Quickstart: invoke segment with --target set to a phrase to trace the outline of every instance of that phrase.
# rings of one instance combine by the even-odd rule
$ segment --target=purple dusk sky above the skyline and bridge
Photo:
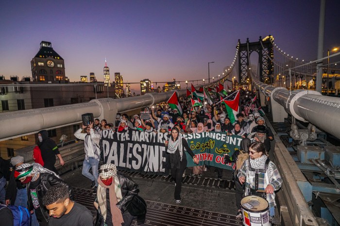
[[[340,46],[339,10],[340,0],[326,0],[325,54]],[[103,81],[105,57],[111,81],[115,72],[124,82],[207,80],[208,62],[210,78],[231,65],[238,39],[268,34],[311,61],[319,12],[319,0],[1,0],[0,75],[32,77],[42,40],[64,58],[70,81],[90,72]]]

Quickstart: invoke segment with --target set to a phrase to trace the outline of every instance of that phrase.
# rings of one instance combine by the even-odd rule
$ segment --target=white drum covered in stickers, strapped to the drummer
[[[249,195],[241,200],[242,222],[245,226],[270,226],[269,204],[264,198]]]

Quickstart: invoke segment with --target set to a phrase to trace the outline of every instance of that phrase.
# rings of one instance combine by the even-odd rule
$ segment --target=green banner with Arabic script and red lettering
[[[187,144],[200,161],[198,165],[210,165],[223,169],[233,170],[235,164],[224,164],[223,154],[232,156],[238,150],[242,137],[227,135],[222,132],[203,132],[183,134]],[[187,167],[196,166],[191,156],[187,154]]]

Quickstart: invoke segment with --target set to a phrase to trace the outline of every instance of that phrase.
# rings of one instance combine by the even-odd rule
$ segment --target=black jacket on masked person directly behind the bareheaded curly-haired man
[[[39,208],[44,215],[45,221],[48,222],[50,219],[49,211],[43,205],[42,199],[45,196],[46,192],[49,190],[49,188],[57,184],[63,184],[63,185],[68,186],[69,197],[71,200],[73,199],[73,190],[72,190],[72,187],[69,186],[64,180],[57,178],[53,174],[41,173],[39,175],[39,178],[40,178],[40,183],[36,187],[36,194],[38,196]],[[33,207],[32,196],[30,192],[30,183],[27,184],[27,196],[28,196],[28,210],[31,211],[34,209],[34,207]]]

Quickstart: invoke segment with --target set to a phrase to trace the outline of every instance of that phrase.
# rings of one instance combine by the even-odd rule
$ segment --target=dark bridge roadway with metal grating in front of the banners
[[[189,172],[187,169],[187,174]],[[231,171],[223,173],[223,179],[230,178]],[[213,178],[214,175],[214,169],[210,168],[203,176]],[[82,175],[82,168],[68,172],[62,178],[74,187],[75,201],[85,205],[96,215],[91,182]],[[178,205],[173,198],[174,183],[171,180],[153,180],[138,176],[131,178],[139,185],[139,195],[147,200],[147,225],[242,225],[241,219],[235,217],[237,208],[233,188],[183,184],[182,203]]]

